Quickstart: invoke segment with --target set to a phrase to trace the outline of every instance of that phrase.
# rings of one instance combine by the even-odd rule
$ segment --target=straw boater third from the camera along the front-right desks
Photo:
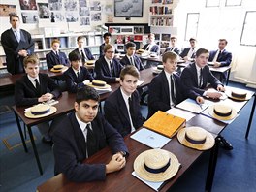
[[[234,108],[223,104],[209,106],[208,113],[218,120],[231,120],[237,116],[237,111]]]

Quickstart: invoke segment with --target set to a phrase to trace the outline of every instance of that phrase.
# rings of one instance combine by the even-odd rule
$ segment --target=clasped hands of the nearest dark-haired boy
[[[106,165],[106,174],[122,169],[125,163],[125,157],[123,157],[121,153],[112,155],[112,160]]]

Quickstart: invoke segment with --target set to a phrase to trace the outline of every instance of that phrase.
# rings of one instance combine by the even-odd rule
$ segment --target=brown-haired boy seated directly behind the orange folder
[[[140,73],[134,66],[127,66],[120,74],[120,88],[105,101],[106,119],[124,137],[143,126],[140,95],[137,88]]]

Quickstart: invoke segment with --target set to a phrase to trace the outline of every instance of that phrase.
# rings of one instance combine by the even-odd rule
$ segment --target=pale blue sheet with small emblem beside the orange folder
[[[171,141],[170,138],[146,128],[140,129],[135,134],[131,135],[131,138],[151,148],[162,148],[165,144]]]

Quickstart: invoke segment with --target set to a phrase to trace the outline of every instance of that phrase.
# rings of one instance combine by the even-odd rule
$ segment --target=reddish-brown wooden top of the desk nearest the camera
[[[201,121],[204,118],[205,127],[206,125],[217,126],[219,130],[222,130],[225,124],[216,124],[216,121],[212,121],[210,118],[206,118],[203,115],[197,115],[194,117],[195,121]],[[192,118],[193,119],[193,118]],[[191,120],[192,120],[191,119]],[[189,126],[189,122],[187,125]],[[214,135],[216,137],[216,135]],[[83,182],[76,183],[68,181],[67,178],[60,174],[50,178],[45,183],[38,186],[40,192],[44,191],[153,191],[150,187],[145,185],[141,180],[132,176],[133,162],[136,157],[144,150],[150,149],[148,146],[141,144],[129,136],[125,137],[125,144],[129,149],[130,155],[127,158],[126,166],[123,170],[109,174],[105,181],[94,181],[94,182]],[[173,152],[182,167],[170,181],[168,181],[160,191],[167,191],[172,185],[175,184],[176,180],[184,174],[184,172],[193,164],[193,162],[204,152],[195,149],[188,148],[182,144],[179,144],[176,137],[174,137],[170,143],[166,144],[164,149]],[[95,155],[86,159],[84,163],[106,163],[111,159],[112,153],[109,147],[97,152]]]

